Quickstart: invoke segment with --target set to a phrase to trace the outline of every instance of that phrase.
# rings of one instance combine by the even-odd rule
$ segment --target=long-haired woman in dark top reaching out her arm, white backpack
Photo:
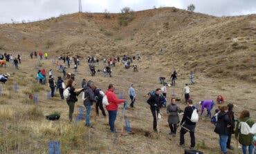
[[[66,98],[66,103],[68,104],[69,107],[69,121],[73,121],[73,113],[74,113],[74,108],[75,108],[75,102],[77,102],[77,95],[79,95],[84,88],[75,88],[75,81],[73,79],[68,79],[66,83],[66,88],[69,88],[68,91],[70,95]]]

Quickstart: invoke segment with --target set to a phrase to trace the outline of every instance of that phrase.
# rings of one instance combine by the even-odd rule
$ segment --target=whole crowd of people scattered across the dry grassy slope
[[[37,52],[31,52],[30,57],[33,59],[33,56],[37,57]],[[43,53],[39,52],[39,59],[42,59]],[[6,61],[12,61],[14,64],[17,62],[17,64],[21,64],[21,56],[18,55],[17,58],[13,59],[12,55],[5,54],[4,57],[6,58]],[[0,56],[1,58],[1,56]],[[44,53],[44,59],[48,59],[48,53]],[[128,69],[133,63],[133,60],[135,60],[136,57],[127,57],[124,55],[122,57],[122,64],[124,65],[124,68]],[[138,60],[140,57],[138,57]],[[15,62],[16,60],[16,62]],[[77,72],[77,66],[80,65],[80,57],[77,55],[75,57],[71,56],[61,56],[59,57],[59,60],[63,60],[64,64],[70,68],[71,63],[74,63],[74,70]],[[106,60],[105,60],[106,61]],[[91,75],[94,76],[95,71],[95,63],[99,62],[98,59],[95,57],[88,57],[88,63],[89,63],[89,69],[91,70]],[[120,58],[110,58],[109,60],[103,63],[106,64],[103,68],[104,76],[109,75],[111,77],[111,67],[116,66],[116,62],[120,62]],[[118,104],[128,104],[125,99],[118,99],[116,97],[116,94],[114,93],[115,85],[109,84],[107,91],[102,94],[102,90],[98,88],[95,85],[94,81],[86,81],[86,79],[82,79],[81,88],[75,88],[76,82],[75,82],[75,74],[74,73],[66,73],[66,67],[64,67],[64,64],[60,64],[59,61],[56,62],[57,68],[62,71],[63,77],[57,77],[57,81],[54,79],[53,70],[48,70],[48,87],[51,89],[51,97],[55,97],[55,89],[59,90],[61,99],[65,99],[64,97],[64,91],[68,89],[68,97],[66,97],[66,103],[68,104],[68,119],[69,122],[73,122],[73,113],[75,108],[75,102],[77,102],[77,96],[82,93],[82,101],[84,103],[84,106],[86,108],[86,115],[85,115],[85,126],[88,126],[89,128],[94,128],[91,124],[90,117],[91,117],[91,110],[93,103],[95,102],[95,113],[96,115],[99,115],[99,108],[101,110],[101,113],[104,117],[107,117],[106,111],[108,113],[109,117],[109,129],[111,133],[117,133],[117,130],[115,128],[115,122],[118,112]],[[17,67],[18,69],[18,67]],[[42,68],[41,70],[38,70],[37,72],[37,82],[39,84],[46,84],[46,70]],[[0,76],[1,79],[3,76]],[[6,77],[8,78],[8,77]],[[66,84],[65,84],[65,79]],[[177,73],[176,70],[171,75],[171,86],[175,86],[177,79]],[[252,127],[253,124],[255,124],[255,121],[253,118],[250,117],[250,113],[248,110],[243,110],[241,112],[241,115],[239,117],[235,117],[235,113],[233,112],[234,105],[233,104],[227,104],[225,105],[225,101],[223,96],[218,95],[216,98],[216,103],[214,103],[213,99],[206,99],[199,102],[199,104],[194,104],[192,101],[192,98],[190,97],[190,87],[188,84],[185,84],[185,87],[183,88],[183,94],[185,99],[185,104],[187,105],[183,110],[177,104],[177,101],[179,101],[177,98],[172,97],[170,100],[170,104],[167,104],[167,88],[165,83],[165,77],[159,77],[159,80],[161,81],[161,84],[163,86],[161,88],[156,88],[156,90],[152,90],[148,95],[147,104],[149,104],[149,108],[152,113],[153,117],[153,131],[156,133],[159,132],[158,128],[158,120],[161,119],[161,116],[163,115],[161,113],[162,108],[166,108],[166,113],[168,115],[167,123],[170,127],[170,133],[169,135],[172,135],[173,137],[176,137],[176,134],[178,133],[177,129],[179,126],[181,126],[180,132],[179,132],[179,146],[184,147],[185,145],[185,139],[184,135],[186,133],[190,133],[190,148],[194,148],[196,146],[196,139],[195,139],[195,128],[196,123],[192,121],[192,117],[194,114],[194,110],[196,112],[199,112],[199,106],[201,106],[201,113],[199,114],[200,117],[203,117],[204,110],[207,110],[207,113],[205,115],[205,118],[214,119],[214,132],[219,135],[219,146],[221,148],[221,151],[225,154],[228,153],[228,149],[233,150],[234,147],[231,145],[232,140],[232,134],[235,133],[235,138],[239,141],[239,143],[242,145],[242,151],[243,153],[246,153],[246,148],[248,147],[249,154],[253,152],[253,134],[243,134],[241,133],[241,122],[245,122],[248,124],[248,126]],[[3,81],[6,82],[6,81]],[[190,72],[190,84],[194,84],[194,73]],[[134,108],[135,102],[136,102],[136,90],[134,89],[134,85],[131,84],[128,91],[129,99],[130,99],[130,108]],[[103,99],[104,96],[107,97],[107,101],[109,105],[104,106],[103,105]],[[198,106],[199,105],[199,106]],[[221,106],[220,106],[221,105]],[[217,106],[217,107],[216,107]],[[105,108],[104,108],[105,107]],[[215,114],[212,116],[212,109],[215,109]],[[183,115],[183,117],[180,120],[180,116]]]

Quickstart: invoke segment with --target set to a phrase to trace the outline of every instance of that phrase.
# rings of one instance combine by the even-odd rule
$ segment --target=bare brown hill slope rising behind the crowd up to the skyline
[[[208,77],[256,81],[256,15],[217,18],[159,8],[135,12],[128,26],[118,25],[119,14],[110,16],[75,13],[33,23],[4,24],[0,26],[0,47],[100,58],[140,52],[156,59],[163,48],[166,58],[161,62],[166,66],[182,66]],[[47,48],[47,44],[52,45]]]

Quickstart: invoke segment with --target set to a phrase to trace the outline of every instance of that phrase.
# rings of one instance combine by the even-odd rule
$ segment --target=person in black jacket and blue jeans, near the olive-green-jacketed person
[[[230,134],[231,120],[228,116],[228,106],[219,107],[217,125],[214,132],[219,134],[219,146],[223,154],[227,154],[228,135]]]

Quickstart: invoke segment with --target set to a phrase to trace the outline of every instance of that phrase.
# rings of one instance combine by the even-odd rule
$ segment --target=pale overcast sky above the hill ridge
[[[196,6],[194,12],[218,17],[256,13],[256,0],[82,0],[82,11],[120,12],[125,6],[133,10],[153,6],[186,9],[190,3]],[[0,0],[0,23],[11,23],[11,19],[36,21],[73,12],[78,12],[78,0]]]

